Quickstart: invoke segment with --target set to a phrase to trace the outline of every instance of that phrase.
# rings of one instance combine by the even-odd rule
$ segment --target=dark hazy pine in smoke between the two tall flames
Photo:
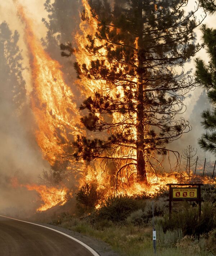
[[[41,39],[44,48],[51,58],[62,65],[67,85],[73,89],[73,93],[80,96],[79,88],[74,83],[77,76],[75,69],[73,69],[75,57],[61,57],[59,45],[69,42],[72,43],[73,47],[76,47],[75,36],[80,25],[81,0],[55,0],[52,4],[48,0],[45,2],[44,8],[48,12],[48,18],[42,18],[42,22],[47,28],[46,37]]]

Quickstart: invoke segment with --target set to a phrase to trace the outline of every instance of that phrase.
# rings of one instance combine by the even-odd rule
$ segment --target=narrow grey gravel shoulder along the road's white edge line
[[[119,254],[112,251],[111,246],[109,246],[109,244],[103,242],[102,240],[97,240],[95,238],[86,237],[85,235],[82,235],[80,233],[77,233],[77,232],[69,230],[69,229],[61,228],[59,226],[54,226],[54,225],[39,223],[39,222],[34,222],[34,223],[40,224],[42,226],[46,226],[49,228],[53,228],[53,229],[56,229],[58,231],[65,233],[65,234],[71,235],[72,237],[80,240],[81,242],[83,242],[83,243],[87,244],[88,246],[90,246],[91,248],[93,248],[101,256],[119,256]]]

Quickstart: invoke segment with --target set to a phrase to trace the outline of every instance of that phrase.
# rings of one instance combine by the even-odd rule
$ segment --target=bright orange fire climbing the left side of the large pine
[[[112,97],[113,102],[120,102],[120,104],[123,104],[125,100],[125,87],[130,87],[130,83],[138,84],[138,76],[134,77],[131,74],[126,74],[125,80],[127,83],[117,80],[115,82],[109,81],[106,79],[103,79],[101,76],[98,79],[91,79],[89,72],[88,75],[85,74],[86,70],[92,70],[93,62],[100,61],[103,65],[110,71],[113,72],[113,66],[112,63],[110,63],[107,59],[108,56],[108,49],[106,47],[102,47],[102,45],[106,45],[107,42],[101,38],[92,37],[92,41],[94,41],[94,47],[96,48],[96,54],[94,54],[94,50],[89,50],[90,41],[89,36],[95,35],[98,32],[98,18],[93,17],[91,13],[91,8],[87,0],[82,0],[82,4],[84,7],[84,12],[82,13],[82,19],[80,23],[80,31],[81,33],[76,34],[76,41],[78,45],[78,49],[75,51],[75,57],[77,60],[77,63],[85,63],[85,66],[78,66],[78,72],[80,72],[82,79],[78,80],[77,83],[80,85],[80,87],[83,90],[83,94],[87,94],[88,96],[94,97],[95,92],[99,92],[102,95],[107,96],[107,94]],[[110,30],[115,33],[115,26],[110,26]],[[120,32],[118,30],[117,32]],[[91,41],[91,42],[92,42]],[[136,37],[134,39],[134,45],[138,47],[138,38]],[[118,44],[111,44],[109,50],[117,50]],[[136,62],[138,62],[138,54],[135,53],[136,56]],[[120,60],[119,63],[115,64],[117,65],[118,72],[126,72],[129,71],[129,67],[124,63],[124,61]],[[137,65],[137,64],[136,64]],[[130,72],[129,72],[130,73]],[[96,75],[97,76],[97,75]],[[93,75],[94,77],[94,75]],[[83,86],[85,84],[85,87]],[[135,89],[132,89],[131,94],[135,94]],[[96,99],[95,99],[96,100]],[[137,99],[133,98],[131,100],[131,104],[138,105]],[[100,113],[95,111],[94,115],[98,118],[99,125],[106,124],[106,116],[104,112]],[[102,159],[96,159],[94,161],[95,168],[89,168],[88,173],[86,177],[84,178],[85,182],[95,182],[102,187],[106,187],[106,190],[109,191],[108,194],[113,193],[113,187],[116,190],[116,194],[126,193],[126,194],[132,194],[132,193],[140,193],[143,190],[150,190],[151,193],[155,189],[155,186],[152,186],[153,183],[160,184],[159,180],[156,178],[155,180],[155,170],[159,169],[160,162],[157,160],[157,156],[155,156],[155,150],[151,150],[150,153],[140,153],[143,154],[143,160],[145,162],[145,172],[147,173],[147,181],[149,185],[147,186],[147,182],[145,180],[145,175],[142,177],[143,181],[140,181],[138,176],[138,168],[137,168],[137,161],[138,161],[138,149],[136,147],[136,141],[139,140],[139,135],[137,133],[137,127],[139,126],[138,116],[137,113],[134,112],[131,113],[121,113],[121,111],[113,111],[112,115],[112,122],[107,123],[107,126],[110,128],[107,129],[107,133],[102,133],[102,137],[105,139],[110,137],[115,137],[117,134],[122,134],[122,131],[125,129],[129,129],[130,134],[128,135],[131,141],[135,141],[134,145],[129,146],[127,143],[121,143],[114,145],[114,150],[111,150],[111,152],[104,153]],[[116,125],[117,123],[117,125]],[[98,126],[99,126],[98,125]],[[151,138],[149,136],[149,130],[150,127],[148,124],[145,124],[144,127],[144,140],[148,140]],[[121,135],[122,136],[122,135]],[[148,151],[148,148],[150,149],[151,145],[147,143],[145,150]],[[108,155],[108,157],[107,157]],[[107,157],[107,161],[105,161]],[[150,164],[150,161],[154,162],[153,165]],[[111,168],[107,168],[108,162],[112,162],[111,164],[114,166],[114,170]],[[95,171],[95,169],[99,169],[99,171]],[[144,169],[144,166],[143,166]],[[152,179],[153,177],[153,179]],[[141,179],[141,180],[142,180]],[[115,184],[113,184],[113,180],[115,180]],[[170,180],[170,179],[169,179]],[[175,181],[175,178],[172,179],[173,182]],[[171,181],[170,181],[171,182]],[[166,182],[165,182],[166,183]]]

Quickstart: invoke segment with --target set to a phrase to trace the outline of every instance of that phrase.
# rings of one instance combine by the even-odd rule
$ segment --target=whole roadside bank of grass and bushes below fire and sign
[[[67,211],[52,213],[49,217],[39,214],[37,221],[58,225],[103,240],[119,255],[151,256],[154,255],[153,203],[157,255],[216,255],[215,185],[203,186],[204,202],[201,217],[196,203],[176,202],[173,204],[172,217],[169,219],[167,191],[162,190],[153,198],[148,198],[145,194],[107,198],[98,209],[95,209],[92,203],[94,198],[97,198],[95,191],[81,193],[80,200],[77,200],[76,211],[70,214]],[[44,219],[41,220],[40,217]]]

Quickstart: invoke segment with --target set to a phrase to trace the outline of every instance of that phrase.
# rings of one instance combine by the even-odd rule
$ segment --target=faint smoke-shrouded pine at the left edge
[[[17,46],[19,34],[6,22],[0,24],[0,104],[9,115],[21,114],[26,103],[26,82],[23,79],[22,55]],[[12,111],[12,113],[11,113]]]

